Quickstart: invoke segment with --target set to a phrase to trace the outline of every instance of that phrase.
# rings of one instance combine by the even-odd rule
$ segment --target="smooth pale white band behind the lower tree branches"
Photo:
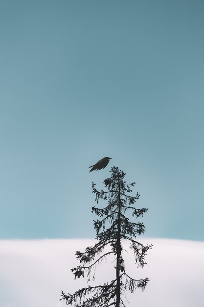
[[[154,247],[147,265],[137,269],[133,255],[125,255],[133,278],[150,279],[144,292],[127,294],[132,307],[203,307],[204,242],[140,239]],[[90,239],[0,240],[0,307],[64,307],[60,292],[86,287],[74,281],[70,268],[77,264],[75,251],[93,245]],[[114,278],[113,259],[96,269],[95,284]],[[98,273],[98,274],[97,274]]]

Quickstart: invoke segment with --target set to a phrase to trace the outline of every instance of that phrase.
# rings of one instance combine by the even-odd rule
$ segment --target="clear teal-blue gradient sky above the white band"
[[[204,1],[1,0],[0,145],[0,238],[94,237],[118,166],[146,235],[204,240]]]

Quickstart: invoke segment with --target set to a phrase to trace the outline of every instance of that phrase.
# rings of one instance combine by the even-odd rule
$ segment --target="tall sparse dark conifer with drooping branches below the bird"
[[[137,267],[143,267],[145,255],[152,245],[143,245],[136,240],[136,237],[145,231],[143,223],[131,222],[125,215],[126,211],[131,210],[133,217],[141,217],[147,209],[137,209],[134,204],[139,199],[139,194],[131,196],[132,187],[135,182],[126,184],[124,180],[125,173],[117,167],[112,167],[111,178],[105,179],[104,183],[107,191],[98,191],[95,184],[92,183],[92,193],[95,194],[95,201],[98,204],[99,199],[107,200],[108,205],[105,208],[92,207],[92,212],[99,216],[100,219],[93,221],[96,230],[97,243],[93,247],[87,247],[84,253],[76,252],[76,257],[83,265],[72,268],[74,278],[88,276],[91,281],[91,269],[94,269],[92,278],[94,279],[95,267],[98,263],[105,260],[107,256],[113,254],[116,260],[116,278],[111,282],[103,285],[88,286],[76,291],[74,294],[61,293],[61,300],[66,301],[66,305],[75,307],[125,307],[121,298],[126,290],[131,293],[136,288],[142,291],[149,281],[145,279],[133,279],[125,271],[123,259],[123,240],[130,242],[130,248],[133,250]],[[107,247],[111,247],[108,249]]]

